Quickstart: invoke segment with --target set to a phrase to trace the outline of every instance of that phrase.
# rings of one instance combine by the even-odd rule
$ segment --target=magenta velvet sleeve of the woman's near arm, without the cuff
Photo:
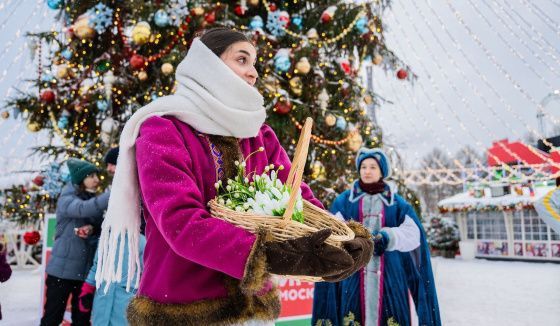
[[[144,208],[177,255],[240,280],[257,237],[210,215],[193,172],[196,159],[172,121],[147,119],[136,140]]]

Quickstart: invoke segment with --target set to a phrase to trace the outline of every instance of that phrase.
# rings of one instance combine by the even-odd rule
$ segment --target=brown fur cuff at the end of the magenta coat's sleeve
[[[270,274],[266,268],[266,252],[264,248],[265,242],[272,241],[272,235],[266,229],[259,229],[257,240],[251,249],[247,265],[245,265],[245,273],[239,284],[241,291],[246,294],[259,293],[266,282],[270,279]]]

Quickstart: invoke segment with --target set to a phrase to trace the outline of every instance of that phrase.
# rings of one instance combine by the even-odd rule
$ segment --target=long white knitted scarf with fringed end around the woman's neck
[[[135,288],[140,281],[140,194],[134,145],[142,123],[153,116],[174,116],[202,133],[249,138],[258,134],[266,118],[261,94],[199,39],[193,41],[175,76],[175,94],[139,109],[125,124],[120,137],[95,274],[97,288],[105,282],[105,291],[110,283],[121,282],[125,242],[129,248],[127,291],[135,275]]]

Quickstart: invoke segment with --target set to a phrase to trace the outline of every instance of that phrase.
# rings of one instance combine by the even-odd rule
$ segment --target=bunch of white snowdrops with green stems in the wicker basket
[[[246,162],[249,157],[262,151],[264,151],[263,147],[249,154],[243,161],[235,161],[237,166],[235,178],[228,179],[225,184],[221,180],[215,184],[218,191],[217,201],[237,212],[283,216],[293,191],[278,179],[278,172],[283,170],[284,166],[276,167],[270,164],[261,175],[257,175],[254,171],[246,174]],[[292,220],[304,222],[301,194],[296,198]]]

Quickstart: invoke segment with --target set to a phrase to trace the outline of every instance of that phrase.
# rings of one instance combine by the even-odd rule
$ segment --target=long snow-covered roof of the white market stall
[[[534,196],[529,196],[526,193],[524,193],[524,195],[518,195],[514,192],[505,196],[492,197],[486,192],[485,196],[481,198],[475,198],[467,191],[439,201],[438,207],[448,210],[476,210],[477,208],[486,206],[512,206],[517,204],[525,206],[531,205],[554,188],[555,187],[549,186],[535,187]]]

